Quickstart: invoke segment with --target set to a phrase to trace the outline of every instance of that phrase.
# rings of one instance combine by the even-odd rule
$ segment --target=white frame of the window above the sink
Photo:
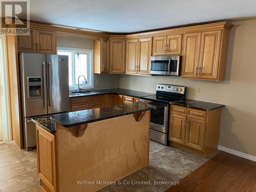
[[[83,89],[93,89],[94,88],[94,65],[93,65],[93,50],[92,49],[79,49],[79,48],[68,48],[68,47],[57,47],[57,53],[58,51],[63,51],[63,52],[72,52],[72,63],[71,63],[71,66],[72,66],[72,86],[69,86],[69,90],[70,91],[75,91],[77,90],[77,86],[78,84],[75,84],[75,81],[76,79],[74,78],[75,77],[75,70],[74,70],[74,67],[75,67],[75,53],[77,53],[77,50],[80,54],[88,54],[89,57],[88,57],[88,62],[89,62],[89,65],[90,65],[90,69],[91,69],[91,72],[88,73],[88,75],[91,77],[91,85],[90,86],[84,86],[84,84],[79,84],[79,87],[80,88],[83,88]],[[88,70],[90,71],[90,70]],[[88,80],[88,79],[87,79]]]

